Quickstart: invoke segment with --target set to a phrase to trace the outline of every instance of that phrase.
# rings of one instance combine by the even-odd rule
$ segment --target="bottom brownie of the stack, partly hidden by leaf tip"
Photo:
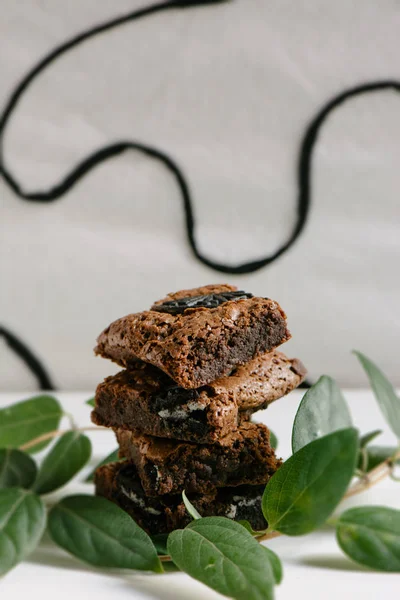
[[[145,531],[154,535],[186,527],[191,521],[181,494],[149,498],[132,464],[110,463],[96,470],[96,494],[125,510]],[[254,530],[267,527],[261,510],[264,485],[222,488],[215,494],[192,494],[190,502],[203,517],[247,520]]]

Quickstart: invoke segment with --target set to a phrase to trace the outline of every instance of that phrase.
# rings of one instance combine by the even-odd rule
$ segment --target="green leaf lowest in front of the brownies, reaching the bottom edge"
[[[274,572],[265,549],[244,527],[224,517],[204,517],[168,537],[178,567],[236,600],[273,598]]]

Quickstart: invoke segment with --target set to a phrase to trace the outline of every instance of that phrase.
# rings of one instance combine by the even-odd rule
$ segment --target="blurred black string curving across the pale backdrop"
[[[151,158],[160,161],[173,174],[182,195],[188,242],[194,255],[198,258],[200,262],[221,273],[238,275],[258,271],[259,269],[271,264],[280,256],[282,256],[285,252],[287,252],[303,232],[309,215],[311,201],[312,154],[321,126],[335,108],[337,108],[350,98],[372,91],[380,91],[387,89],[399,92],[399,81],[384,80],[362,84],[345,90],[344,92],[341,92],[339,95],[335,96],[333,99],[327,102],[325,106],[323,106],[323,108],[318,112],[318,114],[314,117],[314,119],[307,127],[300,146],[297,170],[298,194],[296,207],[296,221],[291,234],[289,235],[288,239],[272,254],[269,254],[259,260],[244,262],[236,266],[214,261],[212,259],[207,258],[200,252],[195,237],[195,219],[189,185],[186,181],[185,176],[183,175],[182,170],[180,169],[180,167],[178,167],[177,163],[167,153],[158,150],[157,148],[135,141],[120,141],[110,144],[85,158],[60,183],[58,183],[57,185],[55,185],[47,191],[40,192],[24,192],[18,181],[12,175],[11,171],[5,166],[3,158],[3,136],[6,125],[14,109],[16,108],[22,94],[26,91],[29,84],[37,75],[39,75],[39,73],[41,73],[52,62],[54,62],[59,56],[61,56],[71,48],[76,47],[78,44],[81,44],[82,42],[88,40],[89,38],[92,38],[100,33],[108,31],[119,25],[123,25],[124,23],[127,23],[129,21],[134,21],[141,17],[149,16],[151,14],[161,12],[164,10],[176,8],[190,8],[193,6],[201,6],[207,4],[218,4],[224,1],[227,0],[174,0],[170,2],[153,4],[151,6],[130,12],[126,15],[122,15],[103,24],[97,25],[91,29],[88,29],[87,31],[76,35],[75,37],[71,38],[67,42],[64,42],[63,44],[52,50],[37,65],[35,65],[22,79],[22,81],[16,86],[15,90],[10,96],[8,103],[6,104],[5,109],[3,110],[0,116],[0,175],[3,175],[5,182],[14,191],[14,193],[19,198],[27,201],[52,202],[66,194],[90,170],[94,169],[96,166],[98,166],[105,160],[117,156],[127,150],[137,150]],[[13,336],[13,334],[10,334],[10,332],[7,332],[4,328],[0,330],[0,332],[6,336],[6,339],[7,336],[11,336],[8,337],[9,345],[17,352],[19,356],[21,356],[21,358],[23,358],[23,360],[26,362],[26,364],[29,366],[32,372],[36,374],[38,380],[41,382],[40,385],[44,383],[45,387],[49,389],[49,384],[51,385],[51,382],[47,374],[44,372],[42,365],[40,365],[40,362],[37,361],[35,357],[33,357],[29,349],[24,344],[22,344],[22,342],[17,340],[17,338]]]

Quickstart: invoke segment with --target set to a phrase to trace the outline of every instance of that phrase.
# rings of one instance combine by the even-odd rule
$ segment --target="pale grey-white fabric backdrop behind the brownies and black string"
[[[0,99],[41,56],[146,0],[2,0]],[[346,87],[398,75],[393,0],[236,0],[152,16],[64,56],[32,85],[5,156],[25,190],[49,188],[89,152],[132,138],[168,151],[194,195],[201,249],[242,262],[276,248],[294,221],[301,135]],[[364,383],[358,348],[400,384],[400,96],[350,101],[314,156],[311,217],[272,266],[227,277],[188,248],[175,182],[126,154],[50,205],[0,179],[0,321],[41,356],[59,387],[94,386],[92,356],[111,320],[165,292],[230,281],[280,301],[311,378]],[[33,378],[0,345],[0,388]]]

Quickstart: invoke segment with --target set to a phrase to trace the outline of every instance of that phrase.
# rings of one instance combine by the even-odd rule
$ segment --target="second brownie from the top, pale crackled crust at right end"
[[[271,352],[236,367],[228,377],[185,390],[159,369],[138,362],[98,386],[92,420],[157,437],[213,443],[248,419],[239,411],[265,408],[304,376],[300,361]]]

